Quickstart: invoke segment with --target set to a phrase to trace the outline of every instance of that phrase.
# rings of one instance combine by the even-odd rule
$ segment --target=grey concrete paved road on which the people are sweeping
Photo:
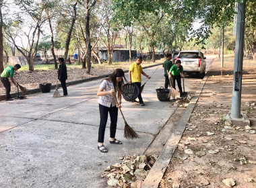
[[[144,71],[150,75],[155,68]],[[187,77],[186,91],[195,90],[200,81]],[[155,89],[164,85],[162,67],[143,90],[145,106],[123,102],[125,118],[141,138],[123,138],[124,123],[119,114],[116,138],[123,145],[108,144],[106,128],[106,154],[97,150],[99,85],[100,80],[72,85],[68,97],[57,99],[53,99],[51,91],[20,101],[0,102],[1,188],[106,187],[106,180],[99,176],[105,167],[120,162],[119,156],[143,154],[146,150],[149,154],[159,152],[159,144],[155,143],[159,142],[158,135],[177,111],[170,102],[160,102],[156,97]],[[164,132],[168,136],[170,130],[165,128]]]

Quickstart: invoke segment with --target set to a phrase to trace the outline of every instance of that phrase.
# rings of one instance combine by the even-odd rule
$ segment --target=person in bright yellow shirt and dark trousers
[[[137,87],[139,87],[138,99],[139,99],[139,105],[141,106],[145,105],[140,92],[141,75],[147,77],[148,79],[151,79],[151,77],[149,77],[146,73],[142,71],[142,67],[140,65],[142,60],[143,58],[141,56],[138,56],[136,59],[136,62],[133,62],[129,68],[129,83],[134,83],[135,85],[137,85]]]

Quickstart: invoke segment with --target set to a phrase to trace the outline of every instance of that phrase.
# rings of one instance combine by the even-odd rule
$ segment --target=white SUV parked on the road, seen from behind
[[[181,60],[184,73],[197,73],[201,78],[205,75],[205,56],[200,51],[181,51],[176,60]]]

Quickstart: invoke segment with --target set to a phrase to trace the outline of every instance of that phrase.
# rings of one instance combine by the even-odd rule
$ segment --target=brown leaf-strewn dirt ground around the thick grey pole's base
[[[227,60],[227,61],[226,61]],[[215,60],[160,187],[256,187],[256,62],[244,61],[241,113],[251,130],[225,120],[231,112],[234,58]],[[190,150],[189,150],[190,149]],[[193,152],[193,154],[187,154]]]

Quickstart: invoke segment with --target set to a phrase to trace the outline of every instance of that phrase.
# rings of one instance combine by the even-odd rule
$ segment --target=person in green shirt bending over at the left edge
[[[11,79],[11,82],[18,87],[18,84],[13,79],[14,71],[17,71],[20,68],[20,64],[15,64],[14,66],[7,66],[5,70],[3,70],[3,73],[1,74],[1,82],[3,83],[3,86],[5,87],[5,101],[13,101],[11,99],[11,83],[9,82],[9,77]]]

